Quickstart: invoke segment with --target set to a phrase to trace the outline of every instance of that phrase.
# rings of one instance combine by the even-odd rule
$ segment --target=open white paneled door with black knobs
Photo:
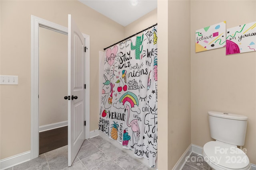
[[[84,37],[68,15],[68,166],[84,141]]]

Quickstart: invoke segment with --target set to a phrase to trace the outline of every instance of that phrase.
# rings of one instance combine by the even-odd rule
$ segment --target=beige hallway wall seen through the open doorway
[[[39,126],[68,121],[68,35],[39,28]]]

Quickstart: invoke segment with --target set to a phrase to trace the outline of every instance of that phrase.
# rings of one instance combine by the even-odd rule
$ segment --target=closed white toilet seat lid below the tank
[[[234,145],[210,141],[203,148],[204,160],[216,170],[249,170],[248,156]]]

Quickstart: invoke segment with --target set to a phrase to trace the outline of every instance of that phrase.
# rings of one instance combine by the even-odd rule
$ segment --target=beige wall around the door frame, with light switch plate
[[[78,1],[1,0],[0,4],[0,72],[19,78],[17,86],[1,85],[0,159],[30,150],[31,15],[67,26],[72,14],[80,31],[90,35],[90,130],[98,129],[98,51],[123,39],[124,27]]]

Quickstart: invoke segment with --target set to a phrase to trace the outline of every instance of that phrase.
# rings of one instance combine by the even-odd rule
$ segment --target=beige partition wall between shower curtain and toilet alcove
[[[158,169],[171,170],[191,144],[190,1],[158,1],[158,40]]]

